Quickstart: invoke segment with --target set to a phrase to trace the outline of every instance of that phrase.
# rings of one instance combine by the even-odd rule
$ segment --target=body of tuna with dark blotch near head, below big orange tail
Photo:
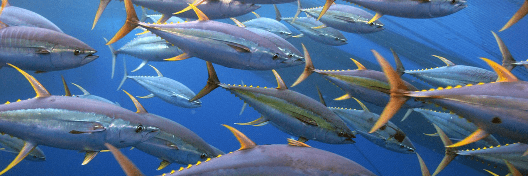
[[[332,107],[329,109],[354,128],[356,132],[376,145],[398,153],[414,153],[416,150],[409,137],[392,122],[388,122],[385,127],[376,130],[374,133],[367,133],[380,118],[378,114],[356,109]]]

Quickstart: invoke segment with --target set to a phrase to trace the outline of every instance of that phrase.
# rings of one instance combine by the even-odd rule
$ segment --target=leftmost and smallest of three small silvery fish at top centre
[[[242,22],[247,27],[265,30],[277,34],[283,39],[289,39],[291,37],[291,31],[286,25],[271,18],[260,17],[260,15],[255,12],[252,13],[257,16],[257,18]]]

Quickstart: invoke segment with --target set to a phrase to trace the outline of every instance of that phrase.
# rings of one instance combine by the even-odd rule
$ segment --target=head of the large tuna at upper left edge
[[[72,36],[67,35],[56,42],[50,52],[57,53],[52,54],[51,63],[58,69],[77,68],[99,58],[99,55],[93,55],[97,52],[95,49]]]

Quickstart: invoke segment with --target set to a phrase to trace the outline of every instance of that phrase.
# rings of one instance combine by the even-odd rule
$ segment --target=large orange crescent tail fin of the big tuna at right
[[[383,112],[378,119],[378,122],[374,124],[369,133],[373,133],[380,127],[385,125],[389,120],[400,110],[401,106],[409,99],[408,96],[404,95],[405,92],[409,91],[409,88],[403,83],[403,80],[398,76],[398,73],[392,68],[391,64],[383,58],[380,53],[375,50],[371,50],[376,57],[376,60],[381,65],[387,80],[391,86],[389,103],[383,109]]]

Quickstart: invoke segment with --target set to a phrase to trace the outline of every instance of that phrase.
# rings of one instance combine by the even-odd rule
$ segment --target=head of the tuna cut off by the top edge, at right
[[[437,0],[431,1],[430,15],[433,17],[453,14],[467,7],[465,0]]]

